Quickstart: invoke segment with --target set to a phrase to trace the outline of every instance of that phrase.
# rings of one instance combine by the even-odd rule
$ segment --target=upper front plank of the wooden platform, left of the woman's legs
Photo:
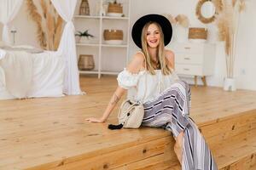
[[[166,137],[162,139],[156,139],[144,144],[136,144],[131,147],[126,147],[122,150],[115,150],[107,154],[98,155],[71,163],[61,161],[61,164],[58,164],[56,167],[52,167],[52,169],[112,169],[114,167],[125,165],[126,163],[164,154],[165,150],[171,149],[166,147],[167,145],[170,145],[170,138],[171,137]],[[49,167],[33,167],[29,169],[49,169]]]

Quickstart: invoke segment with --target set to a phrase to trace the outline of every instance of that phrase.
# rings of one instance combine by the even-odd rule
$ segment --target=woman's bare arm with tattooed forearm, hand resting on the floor
[[[140,71],[140,69],[143,66],[143,60],[144,60],[143,54],[139,54],[139,53],[135,54],[135,56],[131,60],[131,63],[126,67],[127,71],[130,71],[131,73],[137,73],[138,71]],[[125,88],[121,88],[121,87],[116,88],[112,98],[108,103],[106,110],[103,112],[102,117],[100,118],[90,117],[85,120],[89,122],[105,122],[108,119],[108,116],[113,111],[115,105],[117,105],[117,103],[119,102],[119,100],[122,98],[123,94],[125,94],[126,91],[127,90]]]

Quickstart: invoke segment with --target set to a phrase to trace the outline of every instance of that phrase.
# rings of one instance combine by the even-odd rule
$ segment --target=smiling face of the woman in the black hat
[[[155,24],[148,26],[147,43],[150,48],[157,48],[160,42],[160,30]]]

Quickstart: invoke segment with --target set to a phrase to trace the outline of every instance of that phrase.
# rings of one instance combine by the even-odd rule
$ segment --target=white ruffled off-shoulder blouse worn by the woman
[[[128,99],[147,103],[159,97],[179,78],[173,70],[170,75],[163,75],[160,70],[155,70],[155,75],[151,75],[148,71],[139,71],[137,74],[133,74],[124,69],[119,73],[117,80],[119,87],[128,90]]]

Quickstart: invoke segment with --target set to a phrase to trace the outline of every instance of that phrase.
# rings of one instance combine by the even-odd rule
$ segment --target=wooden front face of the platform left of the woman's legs
[[[75,158],[76,161],[69,159],[59,164],[51,164],[47,167],[33,167],[32,169],[54,169],[54,170],[73,170],[73,169],[155,169],[156,167],[172,167],[167,161],[172,159],[177,162],[177,158],[172,151],[174,139],[166,136],[160,139],[154,139],[142,144],[132,144],[130,147],[123,147],[121,150],[112,150],[111,152],[96,154],[83,158]],[[97,150],[99,153],[99,150]],[[79,160],[79,161],[78,161]],[[167,160],[166,163],[158,164],[157,162]],[[151,162],[151,163],[150,163]],[[58,166],[56,166],[58,165]],[[52,167],[52,168],[49,168]]]

